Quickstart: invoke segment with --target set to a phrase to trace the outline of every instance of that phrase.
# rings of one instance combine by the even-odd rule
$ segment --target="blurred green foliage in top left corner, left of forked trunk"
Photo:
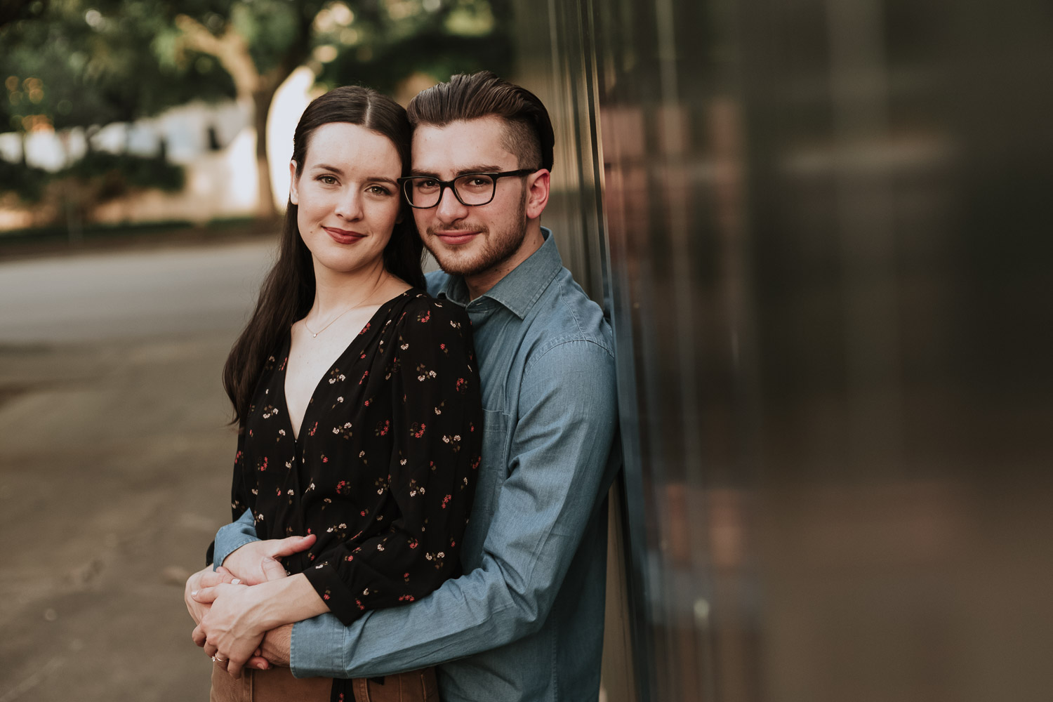
[[[0,131],[102,125],[234,96],[211,57],[159,56],[159,5],[53,0],[0,26]],[[163,48],[159,46],[158,49]]]

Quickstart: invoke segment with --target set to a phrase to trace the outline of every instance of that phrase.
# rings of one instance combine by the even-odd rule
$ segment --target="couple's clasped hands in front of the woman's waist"
[[[186,581],[183,599],[197,626],[194,643],[204,648],[234,678],[245,666],[267,669],[289,665],[292,624],[274,628],[266,617],[267,598],[286,578],[279,558],[315,542],[315,537],[253,541],[234,550],[223,565],[195,573]]]

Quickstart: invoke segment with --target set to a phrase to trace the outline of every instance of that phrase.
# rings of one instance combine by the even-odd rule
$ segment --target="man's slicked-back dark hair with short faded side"
[[[520,168],[552,171],[552,133],[549,111],[536,95],[498,78],[489,71],[458,74],[448,83],[421,91],[406,106],[410,123],[443,126],[457,120],[500,117],[508,122],[504,143]]]

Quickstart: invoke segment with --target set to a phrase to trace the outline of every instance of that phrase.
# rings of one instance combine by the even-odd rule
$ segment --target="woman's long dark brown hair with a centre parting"
[[[388,137],[402,161],[402,175],[409,172],[411,131],[405,109],[376,91],[347,85],[316,98],[303,111],[293,136],[297,178],[303,168],[311,135],[330,122],[358,124]],[[223,388],[234,404],[232,423],[237,422],[239,427],[249,414],[249,404],[267,356],[290,327],[306,316],[315,300],[315,269],[311,252],[300,238],[297,212],[292,202],[285,205],[278,260],[263,280],[256,309],[223,365]],[[384,247],[384,268],[414,287],[423,287],[422,250],[413,217],[408,205],[402,203],[401,222],[395,225],[391,241]]]

